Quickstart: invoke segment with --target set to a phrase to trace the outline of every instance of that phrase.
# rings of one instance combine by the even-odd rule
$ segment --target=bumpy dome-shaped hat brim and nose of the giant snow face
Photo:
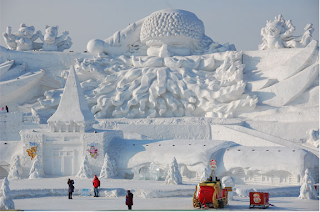
[[[148,16],[141,27],[140,40],[148,46],[148,56],[189,56],[202,41],[204,25],[184,10],[161,10]]]

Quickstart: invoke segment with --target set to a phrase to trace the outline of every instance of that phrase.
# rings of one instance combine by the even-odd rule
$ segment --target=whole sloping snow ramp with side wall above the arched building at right
[[[221,127],[225,128],[222,129]],[[216,129],[220,128],[220,129]],[[269,135],[263,132],[259,132],[253,129],[249,129],[239,125],[223,125],[217,126],[213,125],[212,130],[212,139],[216,140],[216,135],[220,135],[218,139],[221,140],[230,140],[235,143],[239,143],[244,146],[285,146],[290,148],[304,149],[309,152],[312,152],[317,157],[319,157],[318,148],[312,148],[310,146],[294,143],[292,141],[282,139],[273,135]],[[231,132],[230,132],[231,131]],[[222,132],[222,133],[220,133]],[[228,132],[228,133],[226,133]],[[234,134],[234,136],[230,136]],[[223,135],[223,137],[221,137]]]

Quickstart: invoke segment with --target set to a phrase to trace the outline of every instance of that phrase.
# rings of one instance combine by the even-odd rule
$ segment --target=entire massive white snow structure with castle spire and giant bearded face
[[[259,50],[237,51],[167,9],[90,54],[0,46],[1,173],[18,155],[26,178],[37,155],[46,177],[85,158],[98,175],[108,156],[118,178],[164,181],[175,158],[187,182],[215,159],[236,184],[299,185],[306,169],[318,182],[319,47],[312,24],[294,29],[276,16]]]

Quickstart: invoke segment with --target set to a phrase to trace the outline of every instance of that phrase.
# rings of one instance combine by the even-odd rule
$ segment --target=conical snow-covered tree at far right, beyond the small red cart
[[[309,169],[306,169],[300,187],[300,199],[317,199],[317,191],[314,188],[314,180],[310,175]]]

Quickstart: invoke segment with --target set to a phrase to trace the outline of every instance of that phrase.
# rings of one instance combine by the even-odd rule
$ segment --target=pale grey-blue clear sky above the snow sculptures
[[[183,9],[203,21],[215,42],[235,44],[237,50],[257,50],[261,28],[282,14],[302,35],[308,23],[319,40],[319,0],[0,0],[0,30],[12,32],[21,23],[44,34],[46,25],[59,25],[59,36],[69,31],[73,46],[84,51],[91,39],[106,39],[130,23],[161,9]],[[0,45],[5,46],[3,37]]]

